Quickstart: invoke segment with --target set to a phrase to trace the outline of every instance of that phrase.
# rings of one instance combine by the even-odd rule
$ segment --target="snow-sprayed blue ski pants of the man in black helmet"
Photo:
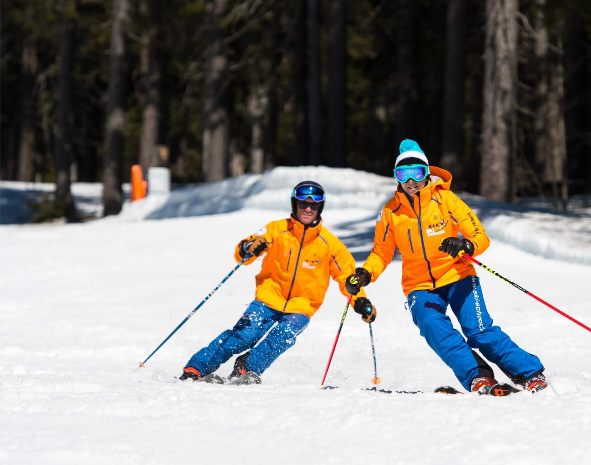
[[[203,375],[213,373],[233,355],[251,349],[246,357],[246,368],[261,375],[296,343],[296,337],[309,321],[304,314],[283,313],[254,300],[232,329],[223,331],[209,346],[194,354],[185,368],[193,366]],[[267,337],[255,347],[267,331]]]

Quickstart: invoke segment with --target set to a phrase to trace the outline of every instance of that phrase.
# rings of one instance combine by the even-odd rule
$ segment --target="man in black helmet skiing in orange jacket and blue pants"
[[[320,184],[297,184],[291,193],[291,216],[268,223],[236,246],[236,262],[252,255],[245,265],[267,252],[261,272],[256,275],[255,300],[231,330],[223,331],[191,357],[181,380],[222,383],[215,370],[233,355],[248,350],[236,359],[229,379],[235,383],[260,383],[258,375],[296,343],[296,337],[322,305],[329,277],[339,283],[343,295],[349,295],[345,279],[355,272],[355,260],[345,245],[322,226],[320,214],[325,200]],[[353,309],[366,323],[375,320],[375,307],[363,290]],[[266,333],[267,337],[256,345]]]

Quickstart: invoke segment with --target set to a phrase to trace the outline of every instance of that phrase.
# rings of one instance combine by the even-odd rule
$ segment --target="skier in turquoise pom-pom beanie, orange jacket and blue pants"
[[[530,391],[543,389],[540,359],[493,325],[476,270],[458,255],[460,251],[479,255],[491,241],[476,214],[450,190],[452,175],[430,167],[417,142],[410,139],[400,144],[394,175],[397,192],[378,214],[374,248],[347,279],[347,290],[355,295],[361,286],[375,281],[398,248],[402,289],[413,321],[467,391],[487,394],[496,384],[493,369],[473,349],[511,381]],[[446,315],[448,305],[466,339]]]

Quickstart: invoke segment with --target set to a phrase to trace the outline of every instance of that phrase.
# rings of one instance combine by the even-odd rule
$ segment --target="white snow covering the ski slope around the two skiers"
[[[235,266],[235,244],[287,216],[290,189],[306,178],[326,188],[324,225],[361,265],[376,213],[396,184],[348,169],[275,168],[148,196],[125,204],[119,216],[77,225],[3,224],[0,463],[584,463],[591,333],[484,270],[495,323],[540,357],[552,389],[506,399],[431,394],[438,385],[460,386],[404,308],[398,259],[367,288],[378,310],[378,387],[425,394],[364,390],[374,376],[371,344],[368,326],[353,311],[326,380],[339,388],[320,389],[346,301],[334,283],[262,385],[176,381],[189,357],[231,327],[254,298],[259,262],[238,269],[134,372]],[[0,218],[17,211],[31,189],[0,183]],[[99,211],[97,185],[78,194],[74,185],[74,196],[77,205]],[[480,261],[591,326],[587,199],[558,214],[462,198],[492,238]]]

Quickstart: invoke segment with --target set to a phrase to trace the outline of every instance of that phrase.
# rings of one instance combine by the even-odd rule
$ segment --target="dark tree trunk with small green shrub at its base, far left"
[[[57,131],[55,134],[56,201],[64,209],[67,219],[76,219],[74,201],[70,192],[70,165],[72,164],[72,63],[74,47],[75,1],[64,2],[60,26],[60,64],[57,77]]]

